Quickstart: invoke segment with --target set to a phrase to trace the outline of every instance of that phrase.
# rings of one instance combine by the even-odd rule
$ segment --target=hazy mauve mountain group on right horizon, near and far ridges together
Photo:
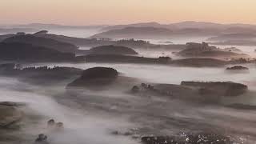
[[[213,37],[222,34],[256,33],[256,25],[219,24],[214,22],[178,22],[159,24],[157,22],[109,26],[102,33],[91,38],[186,38]]]

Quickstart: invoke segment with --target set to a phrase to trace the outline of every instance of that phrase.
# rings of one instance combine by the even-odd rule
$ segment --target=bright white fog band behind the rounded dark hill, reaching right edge
[[[229,74],[225,72],[226,67],[179,67],[159,66],[141,64],[109,64],[109,63],[40,63],[37,66],[70,66],[80,69],[88,69],[94,66],[113,67],[127,77],[140,78],[153,83],[180,84],[182,81],[233,81],[245,84],[256,82],[256,66],[246,65],[250,69],[249,74]],[[34,65],[29,65],[34,66]],[[255,86],[256,87],[256,86]],[[254,89],[254,85],[250,86]],[[256,90],[256,89],[255,89]]]

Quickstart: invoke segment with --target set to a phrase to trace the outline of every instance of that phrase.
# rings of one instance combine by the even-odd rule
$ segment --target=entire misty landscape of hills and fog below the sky
[[[1,144],[254,144],[256,26],[0,26]]]

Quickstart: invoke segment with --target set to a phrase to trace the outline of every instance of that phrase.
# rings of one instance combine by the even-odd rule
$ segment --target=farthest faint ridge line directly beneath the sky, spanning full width
[[[46,23],[30,23],[23,25],[2,25],[2,29],[11,29],[11,28],[21,28],[21,29],[36,29],[36,30],[50,30],[50,29],[102,29],[103,31],[108,30],[120,30],[126,27],[156,27],[156,28],[166,28],[170,30],[178,29],[227,29],[227,28],[249,28],[256,29],[256,25],[251,24],[242,24],[242,23],[231,23],[231,24],[220,24],[214,22],[195,22],[195,21],[185,21],[185,22],[175,22],[170,24],[160,24],[158,22],[141,22],[141,23],[132,23],[125,25],[90,25],[90,26],[67,26],[59,24],[46,24]],[[24,30],[23,30],[24,31]]]

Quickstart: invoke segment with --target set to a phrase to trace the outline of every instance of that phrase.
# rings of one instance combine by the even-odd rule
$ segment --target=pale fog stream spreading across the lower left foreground
[[[63,106],[52,98],[52,92],[37,86],[25,85],[13,78],[0,79],[0,92],[2,102],[24,102],[25,114],[30,115],[23,121],[22,130],[14,132],[14,138],[25,139],[24,144],[33,143],[38,134],[47,134],[50,143],[53,144],[132,144],[135,141],[128,137],[115,138],[111,130],[124,129],[134,125],[126,119],[111,118],[107,114],[94,114],[84,109]],[[59,89],[59,87],[52,88]],[[70,101],[70,104],[72,102]],[[74,106],[75,107],[75,106]],[[46,122],[54,118],[57,122],[63,122],[65,130],[62,133],[51,133],[46,129]],[[22,142],[23,143],[23,142]]]

